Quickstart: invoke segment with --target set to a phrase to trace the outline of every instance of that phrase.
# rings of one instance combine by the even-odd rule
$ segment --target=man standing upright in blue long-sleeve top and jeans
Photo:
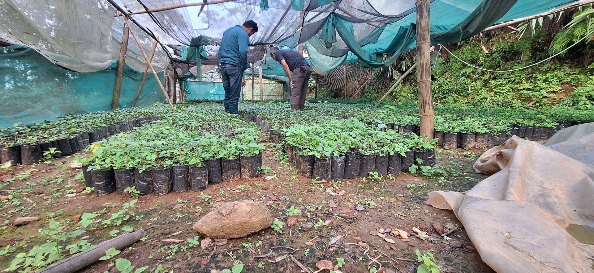
[[[245,86],[244,70],[248,68],[249,37],[258,32],[258,24],[245,21],[223,33],[219,47],[220,71],[225,89],[225,112],[239,114],[241,86]]]

